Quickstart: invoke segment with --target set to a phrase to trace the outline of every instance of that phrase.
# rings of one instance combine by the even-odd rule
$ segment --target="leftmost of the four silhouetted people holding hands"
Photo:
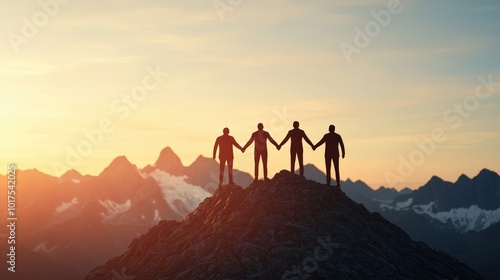
[[[233,145],[240,149],[243,152],[243,148],[234,140],[233,136],[229,135],[229,128],[224,128],[223,135],[217,137],[214,145],[214,156],[217,155],[217,148],[219,149],[219,187],[222,186],[222,182],[224,180],[224,166],[227,162],[227,173],[229,175],[229,184],[233,184]]]

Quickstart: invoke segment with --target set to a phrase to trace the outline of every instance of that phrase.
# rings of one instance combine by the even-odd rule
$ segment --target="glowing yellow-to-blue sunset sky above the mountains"
[[[315,143],[335,124],[343,179],[372,187],[500,171],[497,1],[54,1],[0,11],[1,174],[10,162],[98,174],[119,155],[143,167],[166,146],[189,165],[225,126],[243,145],[258,122],[281,141],[294,120]],[[476,91],[479,76],[494,82]],[[144,79],[149,91],[122,99]],[[418,152],[433,131],[445,136]],[[289,168],[288,149],[271,149],[271,174]],[[323,149],[306,147],[305,162],[324,170]],[[251,152],[235,166],[253,173]]]

